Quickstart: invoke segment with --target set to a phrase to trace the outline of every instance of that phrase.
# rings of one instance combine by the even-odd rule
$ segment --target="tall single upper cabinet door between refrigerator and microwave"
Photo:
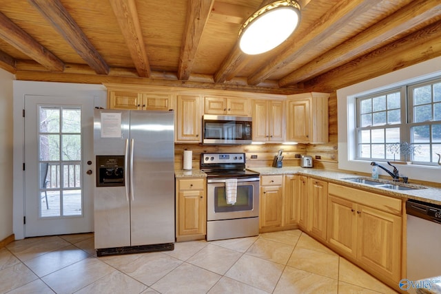
[[[178,95],[176,122],[176,142],[201,142],[201,108],[200,96]]]

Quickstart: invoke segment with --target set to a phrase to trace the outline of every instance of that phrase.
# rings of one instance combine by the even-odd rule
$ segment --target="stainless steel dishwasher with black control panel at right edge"
[[[441,288],[439,281],[431,279],[441,276],[441,205],[408,200],[406,211],[407,278],[400,287],[409,293],[429,286],[432,290]],[[419,280],[424,280],[425,286],[413,283]]]

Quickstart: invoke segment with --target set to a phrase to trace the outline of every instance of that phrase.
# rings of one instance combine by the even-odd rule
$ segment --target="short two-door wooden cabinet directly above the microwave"
[[[205,96],[204,114],[250,116],[250,105],[249,98]]]

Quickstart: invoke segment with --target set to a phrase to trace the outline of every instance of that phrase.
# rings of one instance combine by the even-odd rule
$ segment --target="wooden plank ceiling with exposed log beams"
[[[441,56],[436,0],[299,0],[287,41],[243,54],[240,25],[268,2],[0,0],[0,67],[17,80],[291,94]]]

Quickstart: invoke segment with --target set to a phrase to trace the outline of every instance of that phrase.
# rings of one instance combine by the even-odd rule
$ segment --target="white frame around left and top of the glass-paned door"
[[[14,214],[12,219],[12,229],[15,234],[15,239],[19,240],[25,238],[25,227],[23,225],[24,204],[25,204],[24,189],[23,189],[24,120],[22,117],[22,111],[25,108],[25,96],[27,95],[54,96],[54,99],[56,99],[59,96],[93,97],[95,107],[105,107],[107,102],[106,101],[107,91],[103,85],[14,81],[13,93],[14,93],[14,98],[13,98],[13,103],[14,103],[13,211]],[[9,127],[11,127],[11,125],[12,122],[9,123]],[[11,207],[9,207],[9,209],[11,209]]]

